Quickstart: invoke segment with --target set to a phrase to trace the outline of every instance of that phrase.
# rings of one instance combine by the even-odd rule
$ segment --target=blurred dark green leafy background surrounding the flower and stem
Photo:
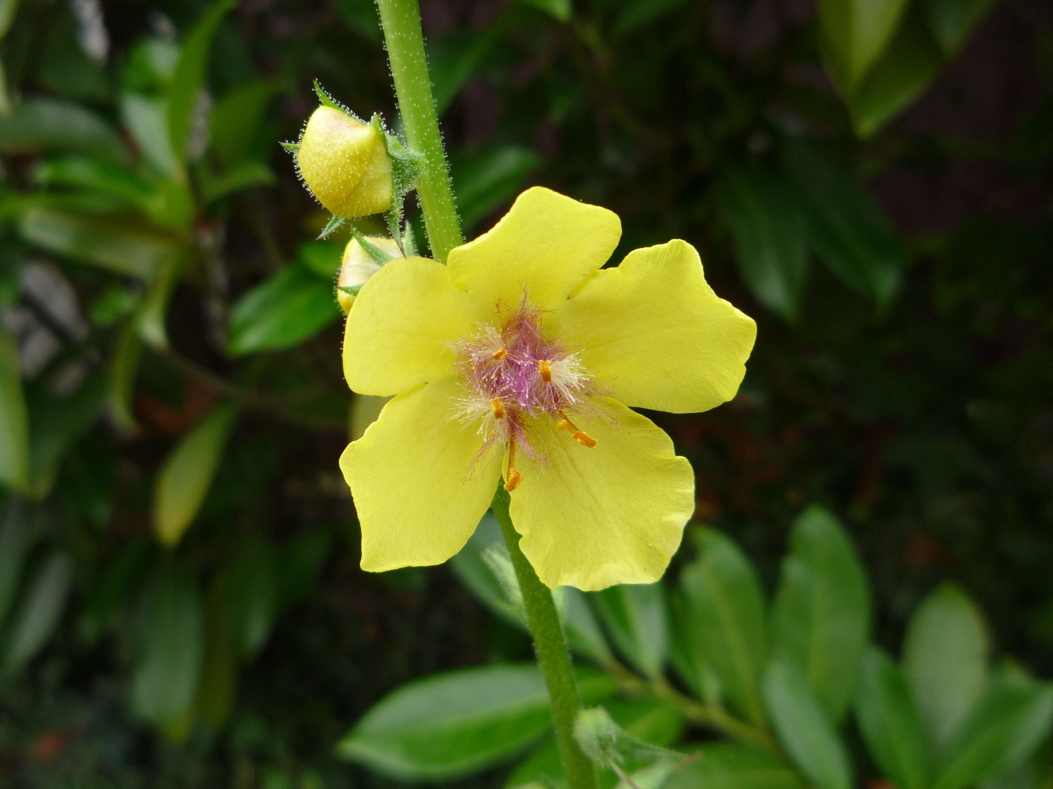
[[[758,321],[734,403],[660,418],[719,531],[563,595],[590,700],[706,754],[669,786],[1049,781],[1053,20],[988,5],[424,5],[470,237],[543,183],[619,214],[615,262],[687,239]],[[397,129],[373,3],[7,0],[0,37],[0,782],[386,785],[338,743],[553,775],[494,563],[356,567],[349,235],[277,140],[316,78]],[[428,702],[443,740],[425,691],[486,706]]]

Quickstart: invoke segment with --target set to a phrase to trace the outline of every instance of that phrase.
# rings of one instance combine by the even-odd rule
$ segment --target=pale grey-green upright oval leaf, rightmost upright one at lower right
[[[984,619],[954,584],[937,588],[914,612],[903,673],[937,747],[947,745],[984,695],[988,654]]]

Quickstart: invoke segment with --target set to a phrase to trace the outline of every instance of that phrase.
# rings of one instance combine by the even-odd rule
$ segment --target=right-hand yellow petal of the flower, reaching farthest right
[[[684,241],[636,249],[596,271],[557,316],[598,383],[627,405],[704,411],[735,397],[757,326],[717,297]]]

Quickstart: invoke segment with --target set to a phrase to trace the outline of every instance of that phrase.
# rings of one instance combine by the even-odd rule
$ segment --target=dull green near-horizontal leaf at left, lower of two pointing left
[[[18,227],[22,238],[49,251],[141,280],[153,279],[185,249],[140,224],[42,206],[22,211]]]

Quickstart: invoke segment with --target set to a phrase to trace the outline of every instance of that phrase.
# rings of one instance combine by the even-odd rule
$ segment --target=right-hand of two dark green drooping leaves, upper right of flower
[[[885,306],[907,252],[878,207],[829,153],[788,140],[783,166],[804,208],[809,246],[847,285]]]

